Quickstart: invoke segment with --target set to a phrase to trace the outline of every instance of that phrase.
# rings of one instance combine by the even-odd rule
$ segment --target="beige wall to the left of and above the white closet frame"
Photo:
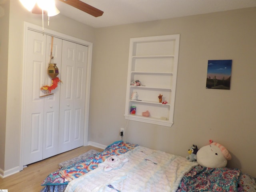
[[[9,2],[9,1],[8,1]],[[88,42],[94,41],[94,30],[92,27],[83,25],[72,19],[57,15],[50,18],[50,26],[47,26],[48,17],[44,17],[44,27],[61,32],[75,38]],[[1,128],[1,134],[5,134],[4,156],[0,156],[0,169],[17,169],[20,163],[20,127],[21,127],[21,96],[22,96],[22,56],[23,56],[23,28],[24,21],[42,26],[42,15],[31,14],[26,11],[18,0],[10,1],[10,26],[8,48],[8,72],[5,69],[8,80],[7,94],[4,92],[6,112],[0,109],[1,115],[6,115],[6,129]],[[8,30],[8,29],[7,29]],[[5,32],[0,29],[0,32]],[[5,36],[8,37],[8,36]],[[1,45],[2,52],[2,45]],[[1,60],[2,61],[2,60]],[[6,60],[5,60],[6,63]],[[2,63],[1,63],[2,65]],[[6,65],[7,66],[7,65]],[[0,69],[4,66],[0,66]],[[2,70],[1,70],[2,73]],[[8,75],[8,76],[7,76]],[[1,76],[2,78],[2,76]],[[5,81],[6,82],[6,81]],[[6,89],[6,88],[5,88]],[[7,95],[7,102],[6,102]],[[1,99],[2,99],[2,95]],[[4,98],[5,97],[5,98]],[[2,118],[2,117],[1,117]],[[1,125],[2,126],[2,125]],[[4,125],[3,125],[4,126]],[[2,142],[2,141],[1,141]],[[1,149],[2,152],[2,149]],[[3,163],[4,162],[4,165]],[[4,166],[4,167],[3,167]],[[0,172],[1,173],[1,172]]]

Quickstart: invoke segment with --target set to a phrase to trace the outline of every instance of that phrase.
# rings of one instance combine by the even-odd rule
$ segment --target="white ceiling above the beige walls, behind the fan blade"
[[[94,28],[255,7],[256,0],[81,0],[102,11],[94,17],[56,0],[60,14]]]

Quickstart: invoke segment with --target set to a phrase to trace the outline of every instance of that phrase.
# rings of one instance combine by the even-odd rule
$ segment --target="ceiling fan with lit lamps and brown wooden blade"
[[[24,1],[26,1],[26,0],[20,0],[20,2],[22,4]],[[49,6],[47,5],[47,8],[42,8],[42,6],[40,6],[40,4],[43,4],[42,2],[47,2],[47,1],[50,2],[50,4],[51,4],[50,6],[52,6],[52,9],[54,9],[54,11],[53,11],[54,13],[52,15],[49,15],[50,11],[48,11],[48,16],[54,16],[54,15],[60,13],[60,11],[55,6],[54,0],[43,0],[43,1],[42,0],[33,0],[34,4],[32,5],[32,8],[31,8],[32,13],[42,14],[42,10],[47,10],[47,8],[49,8]],[[59,1],[66,3],[72,7],[75,7],[79,10],[82,10],[83,12],[86,12],[94,17],[99,17],[99,16],[102,16],[102,14],[103,14],[102,10],[99,10],[93,6],[90,6],[89,4],[86,4],[80,0],[59,0]],[[31,0],[30,0],[30,2],[31,2]]]

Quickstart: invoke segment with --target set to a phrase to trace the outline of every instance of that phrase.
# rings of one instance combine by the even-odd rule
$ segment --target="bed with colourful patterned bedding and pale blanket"
[[[118,169],[101,166],[110,156],[128,159]],[[52,172],[41,192],[256,191],[256,178],[235,168],[206,168],[186,158],[117,141],[103,152]]]

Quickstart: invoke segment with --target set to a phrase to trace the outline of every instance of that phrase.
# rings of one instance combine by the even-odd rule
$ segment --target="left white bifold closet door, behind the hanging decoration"
[[[42,85],[50,85],[47,68],[51,36],[28,30],[24,70],[23,165],[58,154],[60,87],[54,95],[40,97]],[[54,38],[54,63],[61,70],[62,40]]]

